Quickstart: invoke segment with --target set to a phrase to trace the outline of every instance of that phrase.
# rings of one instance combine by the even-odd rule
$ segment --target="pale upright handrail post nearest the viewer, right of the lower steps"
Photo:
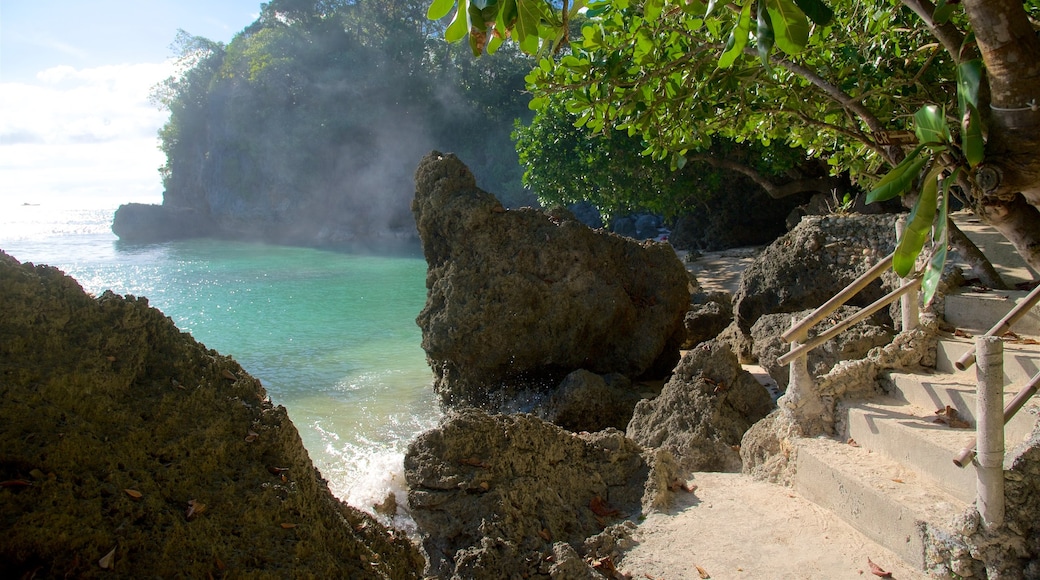
[[[979,337],[976,352],[976,507],[986,527],[992,528],[1004,523],[1004,342]]]

